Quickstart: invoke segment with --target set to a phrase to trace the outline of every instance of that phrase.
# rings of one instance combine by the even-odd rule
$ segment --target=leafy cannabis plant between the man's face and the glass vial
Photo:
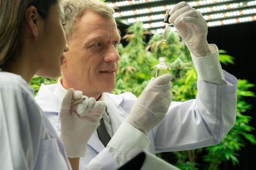
[[[133,33],[124,36],[129,44],[125,48],[121,44],[118,46],[121,60],[114,93],[131,91],[138,96],[154,75],[151,66],[152,63],[157,64],[157,59],[145,51],[143,38],[149,33],[146,29],[141,25],[134,25],[128,32]],[[137,32],[142,34],[136,34]]]

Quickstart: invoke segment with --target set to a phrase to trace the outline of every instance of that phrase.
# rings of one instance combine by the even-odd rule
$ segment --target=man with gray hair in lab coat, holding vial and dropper
[[[197,99],[170,104],[168,74],[152,79],[138,99],[130,92],[108,93],[115,88],[119,61],[114,10],[99,0],[62,0],[62,4],[69,51],[62,58],[58,84],[41,85],[36,101],[57,131],[66,89],[107,103],[86,157],[80,158],[81,168],[117,169],[132,149],[155,154],[215,145],[233,127],[237,80],[221,69],[217,46],[208,44],[200,12],[186,2],[169,11],[169,22],[184,39],[198,74]]]

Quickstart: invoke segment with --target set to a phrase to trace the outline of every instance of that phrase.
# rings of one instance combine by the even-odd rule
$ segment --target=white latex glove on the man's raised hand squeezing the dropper
[[[169,15],[169,22],[175,26],[194,56],[203,57],[211,53],[207,42],[207,24],[202,13],[182,1],[169,11]]]

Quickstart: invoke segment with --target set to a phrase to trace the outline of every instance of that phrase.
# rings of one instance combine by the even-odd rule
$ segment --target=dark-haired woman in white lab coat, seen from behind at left
[[[34,74],[57,78],[63,52],[68,51],[63,20],[59,0],[0,0],[2,170],[78,169],[105,112],[105,103],[93,98],[73,105],[82,92],[69,89],[59,109],[60,141],[34,100],[28,86]]]

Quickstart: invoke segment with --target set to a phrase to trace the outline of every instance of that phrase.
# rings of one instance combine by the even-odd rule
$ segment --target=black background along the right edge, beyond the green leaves
[[[256,21],[233,25],[208,28],[208,43],[216,44],[218,49],[227,51],[235,57],[235,65],[222,65],[222,68],[236,76],[237,79],[247,79],[256,84]],[[256,87],[250,91],[256,93]],[[246,102],[254,105],[245,114],[253,117],[251,126],[256,128],[256,98],[246,98]],[[256,136],[256,132],[254,131]],[[222,165],[222,170],[250,170],[255,167],[256,146],[246,142],[246,147],[240,152],[240,162],[232,169],[232,164]],[[228,167],[228,168],[227,168]]]

